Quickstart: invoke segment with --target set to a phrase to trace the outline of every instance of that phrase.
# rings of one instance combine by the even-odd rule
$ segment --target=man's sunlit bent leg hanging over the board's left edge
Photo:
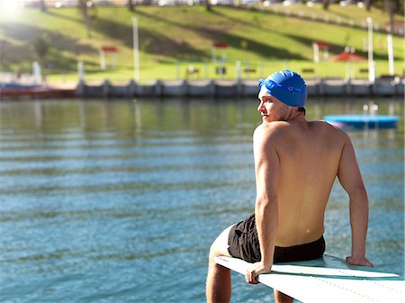
[[[228,252],[230,227],[220,233],[220,236],[215,239],[210,248],[210,260],[205,288],[207,302],[209,303],[224,303],[230,300],[230,270],[214,262],[217,256],[230,256]]]

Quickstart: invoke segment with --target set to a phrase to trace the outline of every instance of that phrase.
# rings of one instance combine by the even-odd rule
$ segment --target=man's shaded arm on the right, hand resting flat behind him
[[[365,237],[368,226],[367,192],[365,192],[365,185],[358,168],[355,148],[347,134],[345,137],[338,167],[338,179],[350,199],[352,252],[351,256],[347,257],[347,263],[373,266],[365,258]]]

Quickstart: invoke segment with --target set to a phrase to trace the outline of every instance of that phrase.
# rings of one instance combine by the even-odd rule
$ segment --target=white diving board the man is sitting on
[[[215,263],[245,275],[251,265],[243,260],[220,256]],[[272,272],[257,281],[304,303],[403,302],[405,281],[396,273],[354,266],[338,257],[293,263],[275,263]]]

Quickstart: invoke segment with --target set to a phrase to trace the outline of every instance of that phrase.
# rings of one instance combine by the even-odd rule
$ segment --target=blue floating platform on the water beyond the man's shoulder
[[[399,120],[395,116],[382,115],[335,115],[323,119],[338,127],[353,129],[395,129]]]

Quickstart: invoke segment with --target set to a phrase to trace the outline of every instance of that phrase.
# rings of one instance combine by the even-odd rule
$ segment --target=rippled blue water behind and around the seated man
[[[369,100],[312,100],[309,119]],[[368,190],[368,256],[403,274],[403,103],[374,100],[399,129],[350,132]],[[0,102],[1,302],[202,302],[211,241],[254,208],[257,102]],[[327,252],[350,253],[336,187]],[[272,291],[233,274],[233,302]]]

